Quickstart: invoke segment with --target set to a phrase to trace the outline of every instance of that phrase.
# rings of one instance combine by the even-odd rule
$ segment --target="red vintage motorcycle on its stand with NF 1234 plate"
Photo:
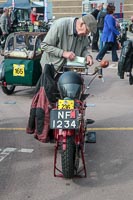
[[[102,78],[102,68],[107,67],[108,61],[102,61],[94,72],[88,73],[85,66],[67,67],[59,77],[57,85],[60,97],[56,107],[50,112],[50,128],[53,129],[56,141],[54,154],[54,176],[73,178],[86,177],[84,158],[85,136],[87,125],[93,120],[85,120],[86,87],[83,75]],[[95,75],[95,76],[94,76]],[[91,81],[89,82],[89,85]],[[58,154],[61,154],[61,167],[58,167]],[[61,169],[60,169],[61,168]]]

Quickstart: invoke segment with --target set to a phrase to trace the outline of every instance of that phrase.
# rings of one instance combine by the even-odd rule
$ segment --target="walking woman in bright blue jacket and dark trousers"
[[[116,28],[116,20],[113,16],[115,12],[114,5],[107,6],[107,14],[104,19],[104,28],[102,34],[102,41],[105,43],[103,48],[100,50],[98,55],[96,56],[96,60],[100,62],[106,52],[111,48],[112,50],[112,61],[118,61],[117,55],[117,37],[120,35],[119,31]]]

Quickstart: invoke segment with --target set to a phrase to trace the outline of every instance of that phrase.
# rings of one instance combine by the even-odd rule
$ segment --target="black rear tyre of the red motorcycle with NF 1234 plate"
[[[73,178],[75,171],[75,142],[73,136],[66,138],[66,150],[61,152],[62,173],[64,178]]]

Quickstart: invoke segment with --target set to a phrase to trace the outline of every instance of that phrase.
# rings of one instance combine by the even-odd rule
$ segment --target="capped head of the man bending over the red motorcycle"
[[[84,15],[77,20],[76,30],[80,36],[88,35],[90,32],[96,33],[97,21],[91,14]]]

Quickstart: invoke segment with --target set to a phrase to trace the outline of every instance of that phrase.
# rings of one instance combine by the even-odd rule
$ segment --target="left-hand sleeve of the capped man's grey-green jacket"
[[[61,38],[62,37],[59,35],[58,26],[53,24],[41,43],[41,49],[47,53],[53,54],[53,56],[62,57],[63,49],[58,48]]]

